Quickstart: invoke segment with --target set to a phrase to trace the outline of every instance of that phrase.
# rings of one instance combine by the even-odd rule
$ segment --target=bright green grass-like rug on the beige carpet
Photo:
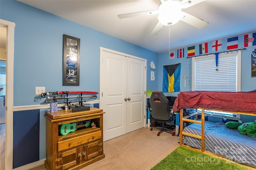
[[[151,170],[248,170],[248,168],[180,146]]]

